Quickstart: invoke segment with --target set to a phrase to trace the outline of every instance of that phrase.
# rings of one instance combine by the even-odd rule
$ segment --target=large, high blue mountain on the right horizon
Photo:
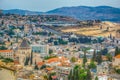
[[[120,22],[120,8],[114,8],[109,6],[62,7],[48,11],[47,13],[71,16],[80,20],[99,19],[103,21],[107,20],[107,21]]]

